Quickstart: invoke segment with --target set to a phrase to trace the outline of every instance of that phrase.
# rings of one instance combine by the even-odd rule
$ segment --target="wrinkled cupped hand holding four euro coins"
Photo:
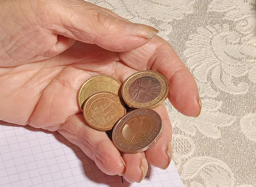
[[[104,173],[123,174],[128,182],[142,180],[148,162],[168,167],[172,129],[164,104],[155,109],[164,127],[159,141],[145,152],[120,155],[105,132],[85,124],[76,99],[93,76],[124,82],[151,69],[169,81],[168,98],[178,111],[199,115],[195,80],[156,29],[82,0],[0,4],[0,120],[58,131]]]

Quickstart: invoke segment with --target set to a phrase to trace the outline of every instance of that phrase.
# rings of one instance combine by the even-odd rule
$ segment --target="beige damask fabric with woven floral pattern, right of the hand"
[[[202,112],[167,102],[186,187],[256,187],[255,0],[91,0],[160,30],[194,75]]]

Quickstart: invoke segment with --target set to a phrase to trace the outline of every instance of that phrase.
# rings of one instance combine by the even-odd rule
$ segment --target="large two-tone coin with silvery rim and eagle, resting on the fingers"
[[[160,137],[162,120],[152,109],[135,109],[119,119],[113,128],[112,141],[125,153],[147,150]]]

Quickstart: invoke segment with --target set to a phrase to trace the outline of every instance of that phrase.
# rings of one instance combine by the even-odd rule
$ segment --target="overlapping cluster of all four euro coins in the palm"
[[[160,137],[162,120],[152,109],[166,100],[168,91],[166,78],[154,71],[134,73],[123,85],[113,77],[96,76],[79,89],[78,104],[90,127],[112,130],[117,149],[137,153]]]

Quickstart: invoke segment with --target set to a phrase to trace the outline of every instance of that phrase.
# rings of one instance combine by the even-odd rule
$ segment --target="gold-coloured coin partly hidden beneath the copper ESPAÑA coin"
[[[84,101],[97,92],[111,92],[116,95],[120,95],[120,87],[121,83],[113,77],[99,75],[90,78],[79,89],[77,97],[78,104],[82,109]]]

